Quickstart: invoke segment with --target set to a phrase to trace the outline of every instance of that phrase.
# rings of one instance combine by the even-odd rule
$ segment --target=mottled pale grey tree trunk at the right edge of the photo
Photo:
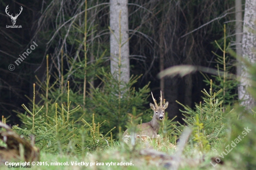
[[[242,50],[243,58],[249,60],[250,63],[256,61],[256,0],[246,0],[244,9],[243,20],[243,41]],[[238,97],[243,100],[241,105],[246,106],[247,109],[251,109],[255,106],[254,99],[246,91],[246,88],[250,85],[249,73],[244,64],[241,65],[241,83],[238,87]]]

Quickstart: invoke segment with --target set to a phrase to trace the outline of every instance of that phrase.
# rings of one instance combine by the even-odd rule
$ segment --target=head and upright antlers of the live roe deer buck
[[[168,102],[164,103],[164,105],[162,105],[162,92],[160,93],[161,97],[160,97],[160,106],[157,105],[156,100],[153,96],[153,93],[151,92],[152,98],[154,100],[154,104],[150,103],[150,108],[154,111],[154,116],[153,119],[155,117],[155,119],[157,121],[162,121],[164,119],[164,110],[168,107]]]

